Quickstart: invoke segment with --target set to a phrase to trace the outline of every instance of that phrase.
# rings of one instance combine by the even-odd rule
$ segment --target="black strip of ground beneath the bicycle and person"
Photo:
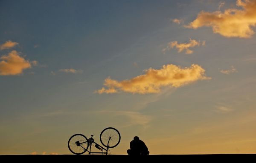
[[[66,162],[88,162],[94,163],[111,162],[111,163],[136,163],[138,160],[143,162],[151,162],[153,160],[162,162],[212,162],[223,160],[228,161],[242,161],[242,162],[255,162],[256,154],[216,154],[216,155],[148,155],[141,157],[131,157],[128,155],[0,155],[1,160],[6,161],[19,161],[23,162],[51,162],[51,161],[63,161]]]

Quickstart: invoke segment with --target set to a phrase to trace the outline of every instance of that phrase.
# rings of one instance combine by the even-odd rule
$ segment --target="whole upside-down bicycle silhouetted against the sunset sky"
[[[94,141],[93,135],[87,139],[86,136],[82,134],[75,134],[70,137],[67,145],[70,152],[76,155],[81,155],[86,151],[89,152],[89,155],[92,153],[108,155],[109,148],[116,147],[120,143],[121,136],[117,129],[108,127],[103,129],[103,131],[100,133],[99,140],[102,145],[106,147],[106,149]],[[95,147],[102,152],[91,152],[91,146],[93,144],[95,144]],[[88,147],[90,147],[89,150]]]

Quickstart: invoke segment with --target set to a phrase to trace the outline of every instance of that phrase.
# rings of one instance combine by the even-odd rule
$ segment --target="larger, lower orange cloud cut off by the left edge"
[[[0,75],[19,75],[23,70],[31,68],[31,63],[19,56],[17,51],[0,57]],[[36,61],[32,61],[36,62]]]

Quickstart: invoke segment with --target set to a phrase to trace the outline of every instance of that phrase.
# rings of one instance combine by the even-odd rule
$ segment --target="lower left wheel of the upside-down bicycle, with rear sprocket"
[[[88,149],[88,139],[82,134],[75,134],[68,140],[67,146],[73,154],[81,155]]]

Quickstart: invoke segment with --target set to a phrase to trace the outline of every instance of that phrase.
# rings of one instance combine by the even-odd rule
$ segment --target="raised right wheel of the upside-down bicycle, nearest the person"
[[[100,133],[99,139],[103,146],[114,148],[120,143],[121,136],[117,129],[108,127],[103,129],[103,131]]]

